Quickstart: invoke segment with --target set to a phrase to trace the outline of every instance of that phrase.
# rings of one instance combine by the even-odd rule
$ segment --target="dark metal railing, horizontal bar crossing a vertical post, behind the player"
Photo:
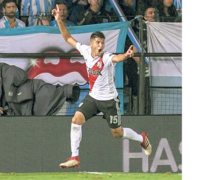
[[[139,95],[138,95],[138,112],[139,115],[145,115],[146,112],[150,112],[149,110],[149,99],[147,98],[146,102],[146,81],[145,81],[145,58],[146,57],[184,57],[184,53],[146,53],[144,51],[143,46],[143,18],[139,18],[140,23],[140,46],[141,46],[141,53],[136,53],[135,57],[140,57],[140,65],[139,65]],[[119,54],[119,53],[115,53]],[[55,53],[55,54],[49,54],[49,53],[0,53],[0,58],[46,58],[46,57],[82,57],[80,54],[74,54],[74,53]],[[132,98],[132,97],[130,97]],[[131,102],[130,99],[130,108],[131,108]],[[146,106],[146,104],[148,104]],[[147,108],[146,108],[147,107]],[[146,111],[147,109],[147,111]],[[130,109],[131,111],[131,109]]]

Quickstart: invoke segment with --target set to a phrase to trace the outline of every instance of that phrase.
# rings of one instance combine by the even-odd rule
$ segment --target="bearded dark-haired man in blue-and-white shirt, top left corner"
[[[0,28],[25,27],[25,23],[15,17],[17,11],[16,0],[4,0],[3,11],[5,16],[0,20]]]

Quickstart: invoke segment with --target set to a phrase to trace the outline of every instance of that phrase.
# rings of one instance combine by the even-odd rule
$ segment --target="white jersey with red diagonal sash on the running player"
[[[118,96],[115,86],[114,54],[104,52],[102,57],[93,58],[91,47],[77,43],[76,48],[84,57],[89,77],[89,95],[96,100],[107,101]]]

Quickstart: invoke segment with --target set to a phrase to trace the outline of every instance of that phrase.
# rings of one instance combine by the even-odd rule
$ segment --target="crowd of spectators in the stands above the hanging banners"
[[[147,21],[184,21],[176,7],[177,1],[182,0],[117,1],[128,19],[143,15]],[[0,28],[58,26],[51,15],[56,4],[69,27],[119,21],[109,0],[0,0]]]

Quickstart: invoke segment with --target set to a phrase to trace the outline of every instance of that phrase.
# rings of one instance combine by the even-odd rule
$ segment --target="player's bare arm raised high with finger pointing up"
[[[60,18],[59,12],[60,12],[59,5],[56,5],[56,9],[52,10],[52,14],[54,15],[55,20],[58,23],[58,26],[60,28],[60,32],[61,32],[63,38],[65,39],[65,41],[76,49],[77,41],[71,36],[69,31],[66,29],[63,21]]]

